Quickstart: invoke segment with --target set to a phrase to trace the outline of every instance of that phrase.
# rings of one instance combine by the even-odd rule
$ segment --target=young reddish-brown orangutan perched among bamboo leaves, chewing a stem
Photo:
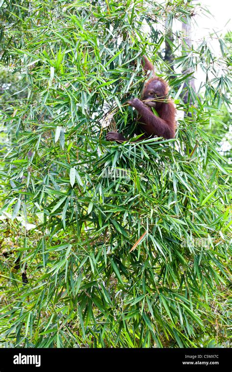
[[[168,85],[155,75],[154,66],[145,56],[143,56],[142,65],[145,71],[153,71],[154,77],[145,84],[141,100],[133,98],[128,101],[129,105],[135,107],[139,114],[138,127],[143,133],[139,140],[154,136],[169,140],[175,137],[176,109],[173,101],[167,98]],[[155,108],[159,117],[153,114],[152,107]],[[109,132],[106,140],[121,142],[125,141],[125,138],[120,133]]]

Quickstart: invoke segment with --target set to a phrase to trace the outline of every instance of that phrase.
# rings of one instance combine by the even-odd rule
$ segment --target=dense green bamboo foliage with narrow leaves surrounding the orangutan
[[[23,91],[1,114],[4,346],[227,340],[229,168],[205,129],[228,106],[229,57],[222,47],[217,75],[205,41],[182,54],[179,34],[171,43],[159,27],[193,13],[186,1],[3,1],[1,60]],[[192,115],[179,120],[175,140],[106,142],[109,123],[133,133],[126,101],[141,91],[144,52],[157,73],[172,75],[178,111]],[[188,76],[175,71],[196,66],[215,77],[202,95],[189,88],[196,104],[185,106]]]

